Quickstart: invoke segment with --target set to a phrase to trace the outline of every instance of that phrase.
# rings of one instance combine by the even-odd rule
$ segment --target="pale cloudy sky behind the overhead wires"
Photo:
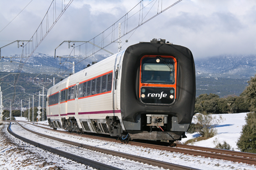
[[[120,20],[122,35],[127,29],[132,30],[138,26],[141,21],[139,18],[143,18],[145,21],[150,16],[156,15],[157,9],[160,11],[160,7],[165,9],[177,1],[163,0],[158,3],[155,0],[144,0],[143,13],[141,11],[132,18],[132,15],[140,7],[137,6],[128,13],[128,17],[131,17],[128,22],[124,23],[124,19]],[[60,14],[58,9],[61,8],[61,2],[61,0],[54,1],[57,6],[57,16]],[[68,0],[66,0],[67,2]],[[0,1],[0,31],[2,30],[0,32],[0,48],[16,40],[30,40],[51,3],[52,0]],[[89,41],[106,30],[105,36],[109,34],[107,29],[138,3],[140,3],[139,0],[74,0],[34,52],[54,55],[55,48],[63,41]],[[155,5],[152,7],[153,3]],[[149,11],[151,7],[152,9]],[[23,8],[25,9],[23,10]],[[48,26],[53,23],[51,21],[52,13],[53,10],[50,8]],[[12,22],[10,23],[10,21]],[[6,26],[8,23],[10,24]],[[46,25],[42,25],[43,28],[46,27]],[[122,37],[121,45],[122,49],[125,49],[140,41],[149,42],[153,38],[161,38],[189,48],[195,59],[219,55],[255,55],[255,30],[256,1],[254,0],[182,0]],[[40,37],[39,32],[40,28],[38,37]],[[117,33],[118,28],[115,31],[115,39],[118,36]],[[99,39],[102,39],[101,35],[97,40],[95,39],[95,44],[99,44]],[[110,42],[110,39],[106,38],[105,45]],[[80,44],[75,43],[75,46]],[[118,43],[113,43],[106,49],[117,53]],[[26,51],[21,47],[17,48],[16,42],[1,48],[1,56],[19,55],[22,50]],[[108,54],[102,50],[100,53]],[[72,47],[68,48],[68,43],[64,43],[56,49],[56,55],[69,54],[74,54],[74,50],[72,51]],[[75,55],[77,54],[85,54],[85,47],[81,46],[80,49],[76,47]]]

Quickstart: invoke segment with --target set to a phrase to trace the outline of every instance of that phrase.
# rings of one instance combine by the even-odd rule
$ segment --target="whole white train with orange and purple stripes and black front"
[[[157,52],[159,51],[159,45],[164,45],[164,55],[161,52]],[[192,83],[190,83],[192,87],[188,87],[189,89],[187,90],[189,94],[181,92],[177,85],[179,83],[177,81],[177,76],[179,75],[177,66],[179,66],[179,62],[175,63],[176,70],[173,72],[173,74],[175,73],[175,77],[173,77],[176,81],[173,81],[173,83],[143,84],[143,80],[140,80],[140,77],[142,77],[140,68],[142,69],[141,61],[143,57],[157,58],[159,56],[156,55],[163,55],[163,57],[168,58],[170,55],[169,58],[173,61],[178,60],[179,56],[173,55],[176,51],[166,54],[166,50],[168,51],[168,48],[172,46],[175,45],[165,43],[136,44],[55,84],[47,93],[47,118],[49,125],[55,129],[62,128],[76,132],[102,133],[118,137],[129,133],[132,139],[180,140],[181,136],[188,129],[193,116],[192,112],[194,111],[194,106],[186,107],[186,111],[189,113],[184,118],[184,114],[178,113],[178,108],[174,107],[175,104],[178,105],[179,94],[188,95],[190,103],[195,101],[193,99],[195,94],[190,94],[190,91],[193,91],[195,88],[195,82],[193,82],[193,74],[195,73],[195,70],[193,70],[194,61],[193,56],[189,53],[190,51],[188,51],[187,55],[189,57],[187,58],[190,58],[190,62],[192,61],[193,63],[189,65],[191,66],[190,70],[192,70],[192,73],[190,73],[192,74]],[[140,47],[143,50],[140,50]],[[153,48],[155,49],[152,50]],[[140,51],[144,52],[140,54]],[[136,57],[132,58],[132,56]],[[124,60],[125,63],[123,63]],[[134,64],[135,61],[136,64]],[[171,69],[170,66],[168,68]],[[147,96],[146,98],[141,98],[141,93],[144,90],[140,92],[144,85],[149,88],[160,88],[160,86],[165,89],[172,88],[172,91],[175,91],[175,95],[173,94],[175,97],[170,103],[168,103],[169,99],[167,104],[164,100],[157,100],[158,103],[147,104],[148,100],[145,100]],[[149,93],[148,97],[150,98],[151,96],[153,94]],[[161,96],[166,98],[167,94]],[[179,107],[184,102],[187,102],[187,100],[180,102]],[[159,124],[157,123],[157,125],[154,124],[153,126],[151,119],[153,120],[154,117],[159,117],[160,119],[162,117],[164,122],[159,122]],[[175,124],[174,122],[177,123]],[[185,126],[185,129],[177,128],[179,125]],[[159,126],[160,128],[162,126],[163,132],[159,130]]]

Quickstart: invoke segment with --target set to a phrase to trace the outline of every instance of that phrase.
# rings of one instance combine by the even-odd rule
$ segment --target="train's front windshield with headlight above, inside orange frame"
[[[174,60],[170,57],[145,57],[141,62],[141,83],[174,84]]]

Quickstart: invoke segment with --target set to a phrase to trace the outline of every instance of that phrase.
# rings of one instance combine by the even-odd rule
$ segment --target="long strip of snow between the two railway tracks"
[[[161,151],[157,149],[150,149],[150,148],[144,148],[139,146],[131,146],[129,144],[120,144],[115,142],[109,142],[109,141],[102,141],[97,139],[91,139],[91,138],[85,138],[85,137],[79,137],[72,134],[63,134],[58,133],[56,131],[50,131],[46,129],[41,129],[39,127],[35,127],[31,124],[22,123],[24,126],[26,126],[28,129],[33,129],[39,133],[47,134],[50,136],[55,136],[58,138],[64,138],[66,140],[71,140],[77,143],[82,144],[88,144],[92,146],[97,146],[104,149],[111,149],[118,152],[124,152],[128,154],[133,154],[136,156],[141,157],[147,157],[151,159],[157,159],[165,162],[170,162],[174,164],[179,164],[183,166],[189,166],[194,167],[198,169],[204,169],[204,170],[214,170],[214,169],[255,169],[255,166],[246,165],[246,164],[238,164],[231,161],[224,161],[224,160],[218,160],[218,159],[210,159],[210,158],[204,158],[201,156],[191,156],[191,155],[184,155],[180,153],[174,153],[174,152],[167,152],[167,151]],[[58,146],[56,146],[58,147]],[[104,160],[102,160],[104,161]],[[124,167],[120,167],[124,168]],[[127,167],[125,167],[126,169]],[[129,169],[129,168],[128,168]]]

